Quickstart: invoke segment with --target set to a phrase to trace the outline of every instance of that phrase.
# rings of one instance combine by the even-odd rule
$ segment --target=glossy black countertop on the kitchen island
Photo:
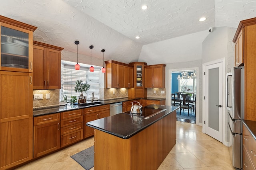
[[[156,121],[164,118],[172,111],[176,114],[176,106],[164,106],[164,105],[149,105],[147,108],[161,108],[166,109],[157,115],[145,119],[144,117],[136,116],[130,114],[130,111],[112,115],[109,117],[104,117],[102,119],[97,119],[94,121],[87,122],[86,125],[104,131],[106,133],[112,134],[114,136],[128,139],[133,135],[139,133],[143,129],[146,129],[148,126],[152,125]],[[145,108],[146,108],[145,107]]]

